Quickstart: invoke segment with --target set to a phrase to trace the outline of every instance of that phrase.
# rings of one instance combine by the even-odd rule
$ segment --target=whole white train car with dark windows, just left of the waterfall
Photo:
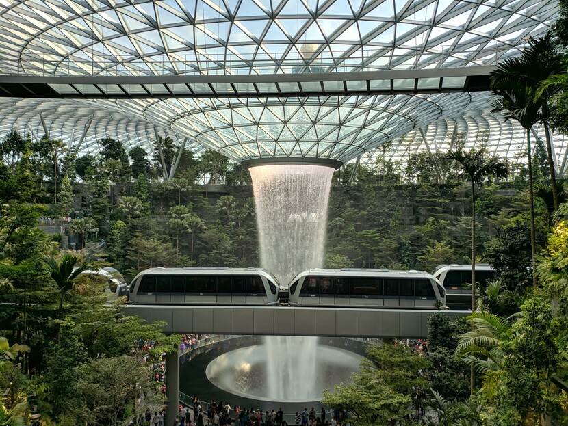
[[[130,284],[133,304],[276,304],[279,284],[264,269],[155,267]]]

